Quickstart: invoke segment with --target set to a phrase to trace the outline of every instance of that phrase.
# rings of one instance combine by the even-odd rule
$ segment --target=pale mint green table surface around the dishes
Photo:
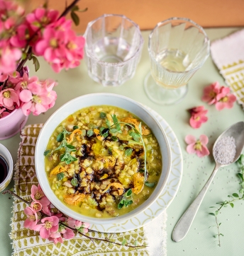
[[[206,29],[206,33],[209,35],[210,40],[215,40],[233,33],[235,30],[237,29]],[[192,80],[189,81],[189,93],[181,103],[172,106],[160,106],[150,101],[147,95],[145,95],[143,88],[144,78],[150,69],[147,49],[149,33],[149,31],[143,32],[145,44],[142,58],[134,78],[120,87],[105,88],[92,81],[87,74],[87,67],[85,66],[84,61],[82,61],[82,64],[77,69],[62,71],[60,74],[55,74],[50,66],[40,59],[40,70],[37,73],[39,78],[54,78],[59,82],[59,85],[55,88],[55,91],[57,91],[57,101],[55,106],[45,114],[38,117],[30,115],[27,124],[45,122],[52,112],[57,110],[58,107],[68,100],[87,93],[118,93],[133,98],[134,100],[138,100],[140,103],[153,108],[153,110],[157,111],[165,118],[174,130],[179,139],[179,144],[182,147],[184,159],[182,183],[179,187],[177,196],[167,209],[167,255],[244,255],[244,202],[237,202],[233,209],[228,206],[228,208],[223,209],[221,214],[219,214],[219,221],[222,223],[221,233],[224,235],[223,238],[221,238],[221,248],[217,246],[216,239],[213,238],[214,233],[216,233],[215,229],[209,228],[209,226],[215,224],[214,216],[208,214],[211,211],[209,206],[214,206],[216,202],[228,199],[228,194],[238,192],[239,181],[235,175],[237,172],[235,164],[218,171],[214,182],[206,193],[204,202],[201,204],[199,212],[192,224],[192,228],[186,238],[179,243],[174,243],[171,239],[174,225],[177,223],[184,210],[187,209],[189,204],[193,201],[194,197],[196,197],[214,169],[214,160],[211,156],[198,158],[197,156],[189,155],[186,152],[184,137],[187,134],[193,134],[197,137],[201,134],[206,134],[209,136],[208,146],[209,149],[211,149],[214,141],[224,129],[235,122],[244,121],[244,112],[237,103],[235,103],[231,110],[224,109],[221,112],[218,112],[214,106],[206,105],[206,103],[201,101],[203,88],[209,85],[209,83],[219,81],[224,85],[223,78],[218,73],[211,57],[206,60],[204,66],[202,66],[193,76]],[[33,66],[29,66],[30,75],[34,76],[35,71],[33,71]],[[206,109],[209,110],[209,121],[203,124],[200,129],[192,129],[192,127],[189,126],[189,113],[187,112],[187,109],[198,105],[204,105]],[[14,162],[16,162],[19,142],[19,134],[13,136],[11,139],[0,141],[1,144],[4,144],[4,146],[11,151]],[[13,185],[13,181],[11,182],[11,185]],[[9,188],[11,188],[11,185],[9,185]],[[9,256],[12,252],[11,240],[8,235],[11,230],[12,199],[8,194],[0,194],[0,200],[0,255]]]

